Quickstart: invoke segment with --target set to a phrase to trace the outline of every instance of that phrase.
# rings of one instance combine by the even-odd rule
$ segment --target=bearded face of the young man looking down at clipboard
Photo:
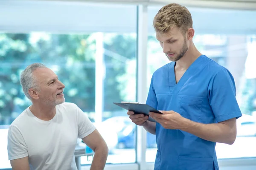
[[[170,61],[181,59],[188,50],[186,35],[176,26],[165,34],[156,32],[156,38]]]

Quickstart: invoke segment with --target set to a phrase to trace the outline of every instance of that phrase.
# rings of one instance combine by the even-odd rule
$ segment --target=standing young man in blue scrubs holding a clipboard
[[[216,142],[233,144],[241,116],[230,72],[201,54],[192,17],[172,3],[154,17],[156,38],[171,61],[154,72],[146,104],[163,114],[129,111],[136,125],[156,134],[154,170],[219,170]]]

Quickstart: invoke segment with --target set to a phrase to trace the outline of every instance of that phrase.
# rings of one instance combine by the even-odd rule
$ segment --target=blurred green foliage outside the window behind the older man
[[[95,110],[95,34],[0,34],[0,125],[9,125],[29,105],[20,85],[20,73],[26,66],[41,62],[51,68],[64,83],[66,102],[84,112]],[[135,60],[136,36],[103,34],[105,77],[103,110],[116,111],[112,102],[123,100],[128,83],[118,79],[129,75],[126,62]],[[120,60],[119,58],[125,59]],[[130,68],[135,69],[135,68]],[[132,91],[135,100],[136,89]],[[108,115],[111,116],[111,115]]]

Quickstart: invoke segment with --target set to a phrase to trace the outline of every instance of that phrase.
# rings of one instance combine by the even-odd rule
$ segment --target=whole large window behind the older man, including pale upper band
[[[74,26],[75,31],[61,30],[67,27],[57,25],[44,28],[35,20],[35,23],[29,23],[34,24],[33,28],[24,25],[15,31],[3,30],[0,33],[0,169],[11,167],[7,154],[9,125],[31,105],[20,86],[20,73],[34,62],[41,62],[55,71],[66,86],[66,102],[78,105],[99,130],[109,148],[107,163],[135,162],[135,126],[132,126],[126,112],[112,102],[136,100],[136,6],[90,3],[67,6],[66,3],[48,2],[30,2],[27,5],[31,7],[28,13],[33,11],[32,7],[40,5],[39,12],[35,12],[38,17],[42,17],[42,8],[49,7],[52,18],[39,18],[46,22],[55,19],[60,22],[54,15],[55,10],[58,13],[81,10],[80,13],[70,13],[73,18],[79,13],[91,16],[91,19],[80,16],[84,20],[81,20],[81,27]],[[1,7],[5,9],[0,4]],[[122,17],[116,15],[120,11],[124,14]],[[45,14],[46,17],[49,13]],[[22,15],[21,12],[21,20]],[[111,23],[117,26],[119,20],[132,20],[133,24],[128,28],[126,25],[111,26]],[[23,31],[24,28],[28,30]],[[125,145],[127,141],[128,146]],[[90,164],[91,161],[90,157],[81,157],[81,164]]]

